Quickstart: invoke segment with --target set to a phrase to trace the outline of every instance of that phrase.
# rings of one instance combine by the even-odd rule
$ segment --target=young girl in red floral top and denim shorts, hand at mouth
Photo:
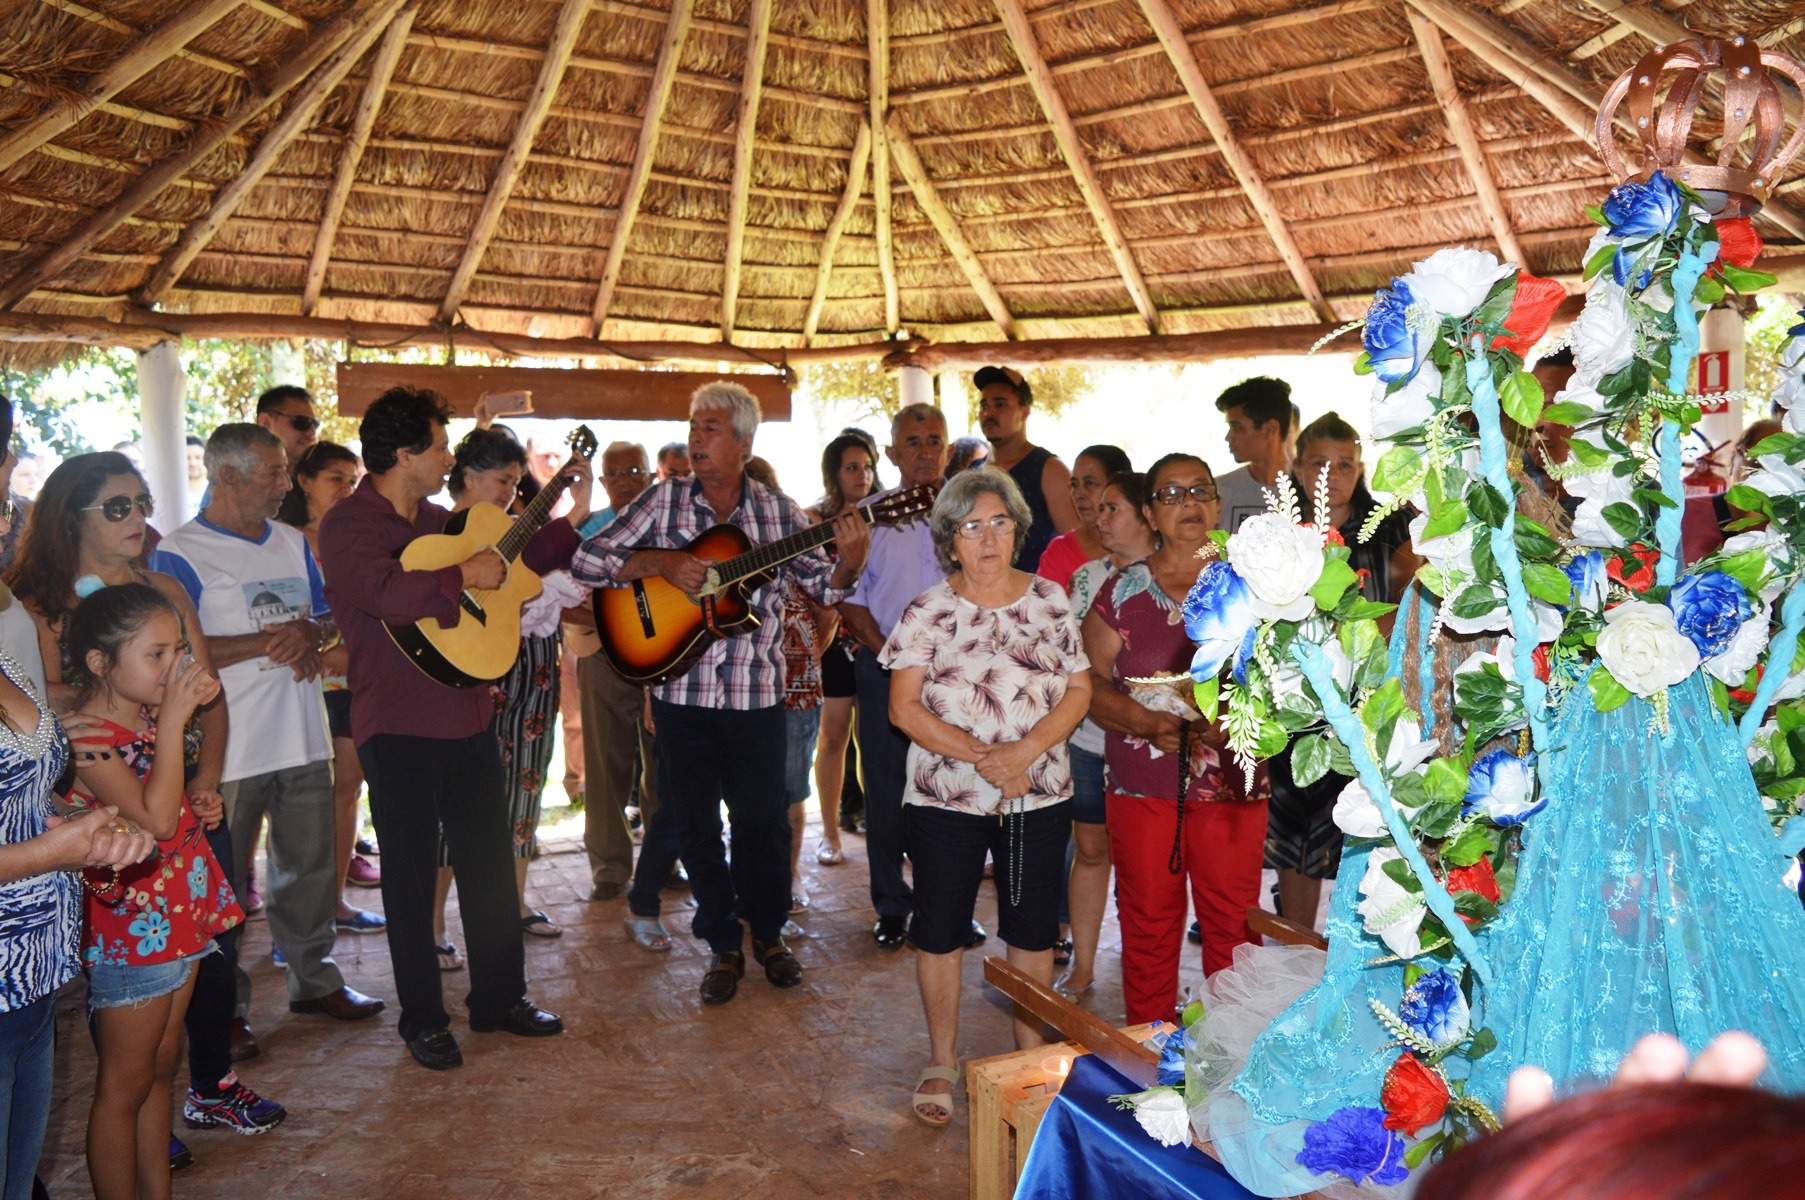
[[[244,920],[202,821],[217,794],[182,790],[182,727],[218,695],[186,655],[175,608],[139,583],[101,588],[69,619],[70,720],[78,805],[112,805],[157,837],[157,854],[121,872],[90,870],[81,958],[99,1050],[88,1110],[96,1200],[170,1195],[170,1081],[195,962]]]

